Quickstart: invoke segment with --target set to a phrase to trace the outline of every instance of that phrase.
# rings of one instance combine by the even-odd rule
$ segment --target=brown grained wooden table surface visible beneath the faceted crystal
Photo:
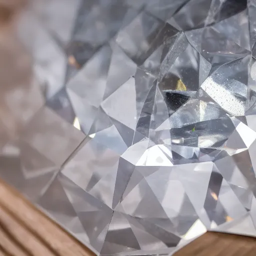
[[[175,256],[254,256],[256,238],[207,232]],[[0,181],[0,256],[94,255],[65,230]]]

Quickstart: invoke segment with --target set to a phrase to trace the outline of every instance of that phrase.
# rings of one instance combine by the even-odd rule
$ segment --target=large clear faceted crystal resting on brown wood
[[[100,255],[256,236],[256,0],[35,1],[19,35],[2,178]]]

